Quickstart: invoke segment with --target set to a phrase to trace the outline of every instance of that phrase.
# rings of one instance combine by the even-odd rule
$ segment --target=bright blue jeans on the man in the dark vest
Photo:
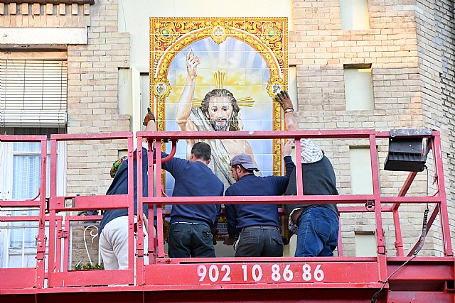
[[[338,244],[338,215],[324,206],[306,209],[299,219],[296,257],[331,257]]]

